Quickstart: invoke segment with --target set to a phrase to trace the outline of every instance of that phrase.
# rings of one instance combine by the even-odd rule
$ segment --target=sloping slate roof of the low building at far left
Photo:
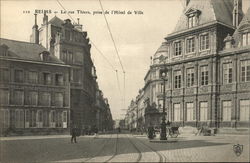
[[[40,53],[47,51],[47,49],[42,45],[0,38],[0,46],[3,45],[6,45],[8,47],[9,58],[45,62],[41,60],[39,55]],[[63,61],[56,58],[54,55],[49,55],[49,60],[46,62],[60,64],[64,63]]]

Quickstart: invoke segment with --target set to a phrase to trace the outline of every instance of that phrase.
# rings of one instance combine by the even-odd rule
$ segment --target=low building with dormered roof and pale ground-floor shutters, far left
[[[68,132],[69,66],[43,46],[0,39],[1,134]]]

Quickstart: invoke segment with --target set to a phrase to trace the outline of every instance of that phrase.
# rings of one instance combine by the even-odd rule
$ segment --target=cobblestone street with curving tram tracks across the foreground
[[[247,135],[180,135],[167,143],[130,134],[81,136],[76,144],[69,136],[6,137],[0,142],[0,162],[249,161]],[[243,145],[240,156],[233,151],[235,144]]]

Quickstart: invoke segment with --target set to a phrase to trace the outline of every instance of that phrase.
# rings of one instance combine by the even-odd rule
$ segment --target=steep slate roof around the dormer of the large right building
[[[233,7],[233,0],[190,0],[188,6],[181,14],[173,33],[188,29],[187,16],[185,13],[190,8],[201,11],[199,16],[199,25],[218,21],[220,23],[233,26]]]

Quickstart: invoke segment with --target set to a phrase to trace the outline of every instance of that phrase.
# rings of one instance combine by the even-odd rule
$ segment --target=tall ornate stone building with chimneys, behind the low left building
[[[72,24],[70,19],[63,21],[56,16],[48,20],[45,14],[39,29],[35,21],[31,41],[43,45],[52,55],[71,67],[71,123],[78,128],[95,124],[96,75],[91,60],[91,45],[87,32],[82,31],[82,25],[79,22]]]

